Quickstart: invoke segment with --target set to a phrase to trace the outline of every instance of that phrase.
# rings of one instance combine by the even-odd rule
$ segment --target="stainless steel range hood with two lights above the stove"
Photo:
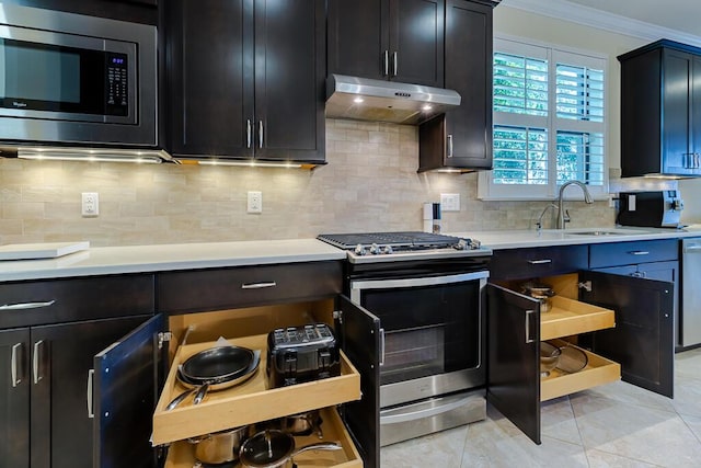
[[[326,117],[417,125],[460,105],[453,90],[331,75]]]

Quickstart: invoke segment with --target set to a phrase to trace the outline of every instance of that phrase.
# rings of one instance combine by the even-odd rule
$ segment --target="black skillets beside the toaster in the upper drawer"
[[[242,384],[253,376],[261,362],[260,352],[241,346],[210,347],[188,357],[177,368],[177,380],[187,388],[165,409],[172,410],[195,393],[198,404],[209,390],[223,390]]]

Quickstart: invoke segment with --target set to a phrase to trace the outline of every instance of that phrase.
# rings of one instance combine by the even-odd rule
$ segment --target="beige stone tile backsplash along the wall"
[[[96,247],[421,230],[423,203],[439,202],[441,193],[460,194],[460,212],[443,215],[444,232],[532,229],[548,205],[479,201],[474,173],[417,174],[414,126],[329,119],[326,161],[306,171],[0,158],[0,243],[89,240]],[[248,191],[263,193],[262,214],[246,214]],[[81,217],[81,192],[100,194],[99,217]],[[571,227],[613,224],[605,202],[566,204]],[[544,227],[552,220],[548,214]]]

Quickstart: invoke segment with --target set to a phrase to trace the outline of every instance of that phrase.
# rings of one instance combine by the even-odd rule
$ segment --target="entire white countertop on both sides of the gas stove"
[[[608,235],[577,235],[605,231]],[[701,225],[683,230],[587,228],[450,232],[492,250],[701,237]],[[317,239],[99,247],[49,260],[0,261],[0,282],[123,273],[196,270],[343,260],[346,253]]]

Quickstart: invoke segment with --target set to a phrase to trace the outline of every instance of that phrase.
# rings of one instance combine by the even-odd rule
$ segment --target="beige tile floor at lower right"
[[[701,350],[675,361],[674,400],[619,381],[545,402],[541,445],[487,406],[485,421],[383,447],[382,468],[701,467]]]

